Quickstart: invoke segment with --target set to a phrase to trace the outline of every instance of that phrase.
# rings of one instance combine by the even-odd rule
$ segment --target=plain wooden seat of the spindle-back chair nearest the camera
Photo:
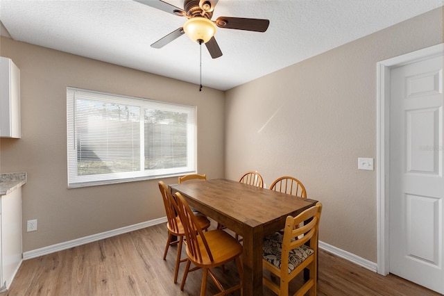
[[[233,260],[233,258],[240,256],[242,254],[242,245],[221,229],[211,230],[204,232],[203,235],[207,240],[208,247],[211,249],[213,261],[210,260],[207,252],[202,252],[202,262],[196,262],[193,260],[193,256],[189,256],[193,261],[194,265],[199,267],[204,266],[218,266],[228,263]],[[205,249],[200,236],[197,236],[198,244],[200,249]],[[187,249],[188,250],[188,249]]]

